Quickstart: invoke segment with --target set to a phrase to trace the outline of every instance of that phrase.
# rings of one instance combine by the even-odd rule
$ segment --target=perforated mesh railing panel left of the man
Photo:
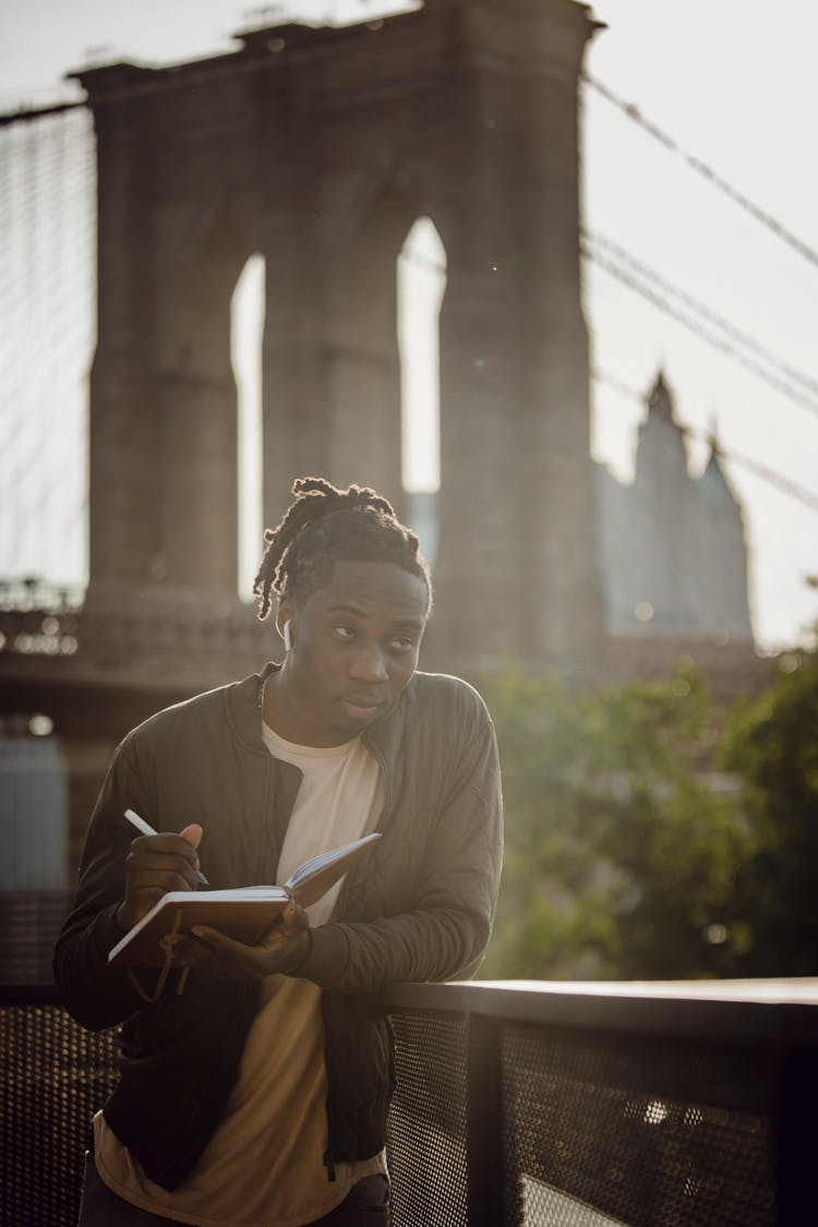
[[[72,1227],[91,1118],[115,1079],[112,1033],[56,1005],[5,1005],[0,1056],[0,1223]]]

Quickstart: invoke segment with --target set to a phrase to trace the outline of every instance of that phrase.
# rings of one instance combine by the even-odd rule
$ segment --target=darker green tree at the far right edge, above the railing
[[[742,704],[721,760],[742,778],[751,852],[735,912],[744,975],[818,974],[818,655],[782,659],[775,685]]]

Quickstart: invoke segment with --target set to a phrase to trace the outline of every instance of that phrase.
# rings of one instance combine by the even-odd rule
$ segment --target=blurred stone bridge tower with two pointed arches
[[[580,306],[573,0],[427,0],[242,36],[169,69],[80,75],[99,173],[91,588],[237,588],[229,301],[266,259],[265,520],[294,476],[401,507],[396,256],[446,250],[432,663],[569,666],[602,601]],[[427,656],[427,664],[429,658]]]

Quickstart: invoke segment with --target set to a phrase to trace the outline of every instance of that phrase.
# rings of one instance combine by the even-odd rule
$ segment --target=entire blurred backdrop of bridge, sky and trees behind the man
[[[48,974],[124,733],[276,655],[251,583],[307,471],[419,531],[426,664],[494,712],[484,974],[816,974],[816,34],[2,10],[4,979]]]

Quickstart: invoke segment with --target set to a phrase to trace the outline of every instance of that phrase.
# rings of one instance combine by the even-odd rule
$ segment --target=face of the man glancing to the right
[[[277,731],[331,746],[378,719],[415,672],[427,607],[424,582],[391,562],[336,562],[329,585],[303,605],[282,601],[292,650],[276,687]]]

